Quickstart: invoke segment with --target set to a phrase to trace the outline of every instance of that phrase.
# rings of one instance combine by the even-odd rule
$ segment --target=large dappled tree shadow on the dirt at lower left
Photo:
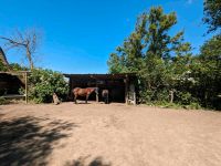
[[[43,127],[45,126],[45,127]],[[67,137],[65,132],[77,127],[74,123],[50,121],[32,116],[1,120],[0,165],[46,165],[46,157],[56,141]]]

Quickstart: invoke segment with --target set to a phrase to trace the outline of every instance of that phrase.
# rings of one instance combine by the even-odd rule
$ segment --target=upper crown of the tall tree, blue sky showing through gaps
[[[176,23],[175,12],[165,14],[161,7],[151,8],[149,13],[145,12],[138,17],[135,31],[112,54],[108,65],[113,65],[112,59],[115,62],[118,60],[122,72],[125,68],[128,72],[136,72],[145,59],[170,59],[173,54],[183,52],[189,48],[189,43],[183,42],[183,31],[173,37],[169,34]]]

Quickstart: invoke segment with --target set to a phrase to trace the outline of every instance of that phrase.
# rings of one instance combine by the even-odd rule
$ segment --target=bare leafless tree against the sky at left
[[[19,49],[25,52],[25,58],[28,59],[30,69],[33,70],[34,61],[33,55],[36,51],[39,44],[40,34],[35,30],[27,30],[24,32],[17,31],[15,34],[11,38],[1,37],[0,39],[6,41],[6,46],[8,49]]]

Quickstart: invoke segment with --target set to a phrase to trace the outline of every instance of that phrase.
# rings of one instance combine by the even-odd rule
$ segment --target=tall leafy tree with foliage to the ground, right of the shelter
[[[175,12],[166,14],[161,7],[151,8],[149,13],[138,17],[135,31],[110,54],[109,72],[136,73],[143,101],[171,101],[169,93],[173,93],[177,74],[172,61],[175,56],[191,56],[191,45],[185,42],[183,31],[169,33],[176,23]],[[181,74],[187,72],[182,69]]]

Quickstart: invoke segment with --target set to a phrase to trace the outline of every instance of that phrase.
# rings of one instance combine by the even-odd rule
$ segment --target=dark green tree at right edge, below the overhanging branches
[[[221,35],[214,35],[200,49],[196,65],[199,98],[206,107],[221,108]]]

